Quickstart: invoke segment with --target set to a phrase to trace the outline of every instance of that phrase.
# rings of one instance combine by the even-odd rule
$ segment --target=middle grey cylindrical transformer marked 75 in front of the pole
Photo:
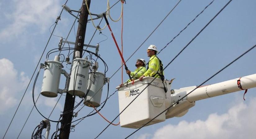
[[[76,58],[72,61],[72,70],[69,83],[71,95],[83,97],[88,83],[88,72],[90,62],[83,58]]]

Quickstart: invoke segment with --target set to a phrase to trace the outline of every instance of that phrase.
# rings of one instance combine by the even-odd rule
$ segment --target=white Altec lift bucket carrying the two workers
[[[135,80],[134,84],[129,82],[121,88],[119,88],[119,86],[116,87],[116,89],[119,89],[118,99],[120,113],[134,100],[124,112],[120,114],[121,127],[140,128],[166,109],[166,103],[170,103],[168,100],[170,98],[171,88],[171,84],[169,83],[171,82],[164,80],[164,85],[168,90],[167,93],[165,93],[161,79],[157,78],[149,85],[153,79],[152,77],[144,77],[142,81]],[[163,121],[165,121],[165,112],[147,125]]]

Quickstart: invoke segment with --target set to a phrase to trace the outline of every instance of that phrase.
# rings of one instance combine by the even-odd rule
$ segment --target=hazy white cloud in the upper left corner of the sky
[[[0,31],[0,38],[8,39],[25,34],[26,30],[36,25],[37,32],[44,32],[52,21],[56,19],[61,9],[59,0],[14,0],[13,11],[5,14],[5,18],[11,22]],[[10,37],[11,36],[11,37]]]

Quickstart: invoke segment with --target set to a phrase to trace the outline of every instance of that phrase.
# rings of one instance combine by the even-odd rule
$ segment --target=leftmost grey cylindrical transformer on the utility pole
[[[59,61],[47,61],[41,90],[43,96],[52,98],[58,95],[62,67]]]

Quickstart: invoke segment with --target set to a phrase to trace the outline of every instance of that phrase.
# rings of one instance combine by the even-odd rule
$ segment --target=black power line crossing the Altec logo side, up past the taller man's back
[[[231,2],[232,0],[230,0],[201,30],[200,30],[200,32],[198,32],[197,34],[196,34],[196,36],[188,43],[188,44],[186,44],[186,46],[173,58],[173,60],[171,60],[169,63],[168,63],[168,65],[170,65],[186,48],[187,48],[187,46],[189,45],[189,44],[191,44],[191,42],[193,41],[193,40],[195,40],[195,38],[213,21],[213,19],[215,19],[215,17],[217,17],[218,15],[219,15],[219,13]],[[169,44],[169,43],[168,43]],[[167,44],[167,45],[168,45]],[[168,67],[168,65],[166,65],[166,67],[163,69],[163,71]],[[160,73],[162,73],[162,71],[160,71]],[[156,77],[141,91],[141,93],[154,81],[156,79]],[[140,94],[141,94],[140,93]],[[130,104],[135,100],[135,99],[137,99],[137,97],[140,95],[140,94],[138,94],[125,108],[124,108],[124,110],[128,107],[128,106],[130,106]],[[115,119],[121,114],[121,113],[123,113],[124,112],[124,110],[122,110],[116,117],[115,117]],[[114,119],[114,120],[115,120]],[[114,121],[113,120],[113,121]],[[112,122],[113,122],[112,121]],[[111,123],[112,123],[111,122]],[[109,124],[110,125],[110,124]],[[108,128],[109,127],[109,125],[106,127],[106,128]],[[103,131],[101,131],[101,133],[103,133],[105,130],[106,130],[106,128],[105,129],[103,129]],[[100,133],[100,134],[101,134]],[[99,134],[99,135],[100,135]],[[99,137],[99,135],[97,136],[97,137]],[[97,138],[96,137],[96,138]]]

